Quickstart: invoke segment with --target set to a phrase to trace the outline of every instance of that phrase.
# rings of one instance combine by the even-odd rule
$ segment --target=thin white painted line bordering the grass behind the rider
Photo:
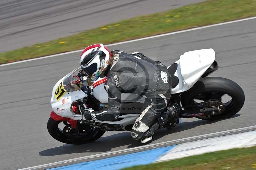
[[[231,23],[235,23],[235,22],[246,21],[246,20],[250,20],[250,19],[256,19],[256,17],[238,19],[238,20],[233,20],[233,21],[228,21],[228,22],[222,22],[222,23],[219,23],[219,24],[212,24],[212,25],[207,25],[207,26],[203,26],[203,27],[196,27],[196,28],[191,28],[191,29],[186,29],[186,30],[166,33],[166,34],[154,35],[154,36],[139,38],[139,39],[135,39],[135,40],[129,40],[129,41],[123,41],[123,42],[119,42],[119,43],[108,44],[106,46],[109,47],[109,46],[119,45],[119,44],[124,44],[124,43],[132,43],[132,42],[136,42],[136,41],[147,40],[147,39],[157,38],[157,37],[166,36],[166,35],[179,34],[179,33],[184,33],[184,32],[188,32],[188,31],[194,31],[194,30],[198,30],[198,29],[204,29],[204,28],[215,27],[215,26],[220,26],[220,25],[225,25],[225,24],[231,24]],[[16,62],[12,62],[12,63],[2,64],[0,66],[8,66],[8,65],[12,65],[12,64],[24,63],[24,62],[27,62],[27,61],[34,61],[34,60],[39,60],[39,59],[44,59],[44,58],[50,58],[50,57],[55,57],[55,56],[60,56],[60,55],[80,52],[80,51],[83,51],[83,50],[75,50],[75,51],[69,51],[69,52],[64,52],[64,53],[60,53],[60,54],[54,54],[54,55],[50,55],[50,56],[44,56],[44,57],[32,58],[32,59],[28,59],[28,60],[16,61]]]

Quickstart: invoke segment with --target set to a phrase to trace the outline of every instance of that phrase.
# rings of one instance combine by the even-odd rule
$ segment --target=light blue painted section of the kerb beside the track
[[[166,146],[162,148],[151,149],[148,151],[141,151],[130,153],[126,155],[115,156],[95,161],[83,162],[74,165],[61,166],[52,168],[50,170],[115,170],[125,167],[146,165],[155,162],[158,158],[172,150],[176,145]]]

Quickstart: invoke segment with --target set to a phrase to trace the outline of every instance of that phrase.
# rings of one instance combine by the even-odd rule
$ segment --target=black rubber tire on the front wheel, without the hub
[[[48,129],[49,134],[54,139],[56,139],[57,141],[60,141],[62,143],[74,144],[74,145],[90,143],[90,142],[93,142],[93,141],[99,139],[105,133],[104,130],[94,128],[91,133],[84,133],[81,136],[75,136],[75,135],[71,135],[71,134],[67,135],[67,134],[63,133],[63,131],[58,127],[58,125],[61,122],[62,121],[53,120],[50,117],[47,122],[47,129]]]

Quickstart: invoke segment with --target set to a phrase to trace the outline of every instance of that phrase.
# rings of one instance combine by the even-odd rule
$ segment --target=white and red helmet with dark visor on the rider
[[[80,55],[80,66],[95,81],[105,73],[110,57],[110,51],[103,44],[90,45]]]

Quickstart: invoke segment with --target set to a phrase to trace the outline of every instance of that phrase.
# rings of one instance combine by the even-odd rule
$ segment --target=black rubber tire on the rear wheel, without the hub
[[[231,81],[222,77],[205,77],[199,79],[196,84],[188,91],[181,94],[181,104],[182,106],[194,104],[194,98],[200,93],[211,93],[212,91],[217,91],[220,93],[228,94],[232,99],[225,104],[225,110],[219,115],[206,117],[197,117],[203,120],[220,120],[229,118],[235,115],[244,105],[244,91],[236,84],[236,82]],[[187,110],[196,110],[198,107],[189,107]]]

